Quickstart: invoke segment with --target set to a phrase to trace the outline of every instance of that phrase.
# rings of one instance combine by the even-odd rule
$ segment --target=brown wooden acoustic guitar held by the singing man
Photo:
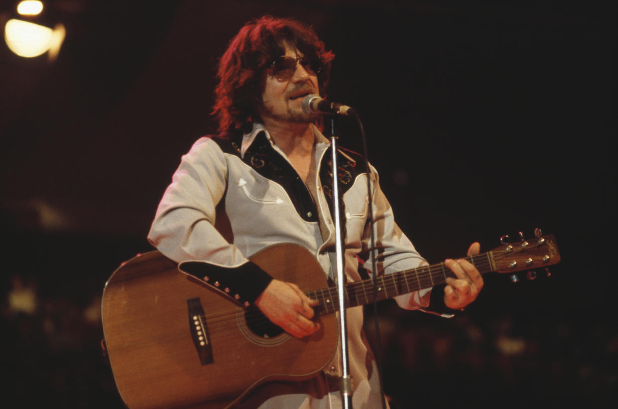
[[[334,356],[338,292],[311,253],[298,245],[265,248],[250,259],[311,298],[320,331],[296,339],[223,289],[177,268],[159,251],[123,263],[109,278],[101,319],[112,372],[130,409],[224,409],[271,380],[307,379]],[[543,268],[560,261],[553,235],[504,244],[466,258],[481,273]],[[364,305],[443,284],[443,263],[345,285],[346,306]]]

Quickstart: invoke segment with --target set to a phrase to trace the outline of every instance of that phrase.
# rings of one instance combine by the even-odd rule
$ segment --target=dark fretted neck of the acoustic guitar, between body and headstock
[[[481,274],[494,271],[492,251],[465,258],[474,264]],[[410,270],[384,274],[376,279],[376,291],[372,279],[351,282],[345,285],[345,305],[347,308],[365,305],[373,301],[386,300],[421,289],[428,289],[434,285],[444,284],[446,277],[455,277],[455,274],[444,263],[417,267]],[[307,292],[308,297],[319,301],[315,307],[321,315],[332,314],[339,310],[339,293],[337,287]]]

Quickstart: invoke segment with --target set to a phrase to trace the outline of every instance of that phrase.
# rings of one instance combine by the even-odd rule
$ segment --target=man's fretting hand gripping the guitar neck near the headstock
[[[477,255],[480,249],[479,243],[472,243],[468,248],[468,256]],[[483,288],[483,277],[475,266],[465,259],[446,259],[444,265],[457,276],[457,278],[446,278],[444,303],[452,310],[461,310],[475,300],[478,292]]]

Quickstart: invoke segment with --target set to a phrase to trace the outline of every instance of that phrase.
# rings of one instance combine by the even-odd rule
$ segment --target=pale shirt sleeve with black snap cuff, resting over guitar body
[[[180,269],[208,284],[223,282],[239,301],[253,303],[271,277],[249,261],[215,227],[227,187],[227,161],[211,138],[182,156],[156,211],[149,242]],[[214,277],[210,280],[210,277]],[[219,285],[217,285],[219,287]]]

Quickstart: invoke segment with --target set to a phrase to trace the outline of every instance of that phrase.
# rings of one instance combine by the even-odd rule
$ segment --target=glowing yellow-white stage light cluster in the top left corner
[[[40,18],[43,3],[40,1],[25,0],[17,6],[19,18],[10,19],[4,26],[4,39],[7,46],[21,57],[38,57],[48,53],[50,61],[56,59],[66,30],[62,23],[54,28],[44,24]]]

